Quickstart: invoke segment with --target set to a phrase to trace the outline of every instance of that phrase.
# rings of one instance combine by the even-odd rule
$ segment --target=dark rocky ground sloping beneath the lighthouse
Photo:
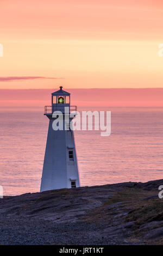
[[[161,245],[163,180],[0,199],[1,245]]]

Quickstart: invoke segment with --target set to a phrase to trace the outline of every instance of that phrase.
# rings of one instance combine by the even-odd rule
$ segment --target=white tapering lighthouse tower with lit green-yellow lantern
[[[66,108],[65,108],[66,107]],[[65,112],[68,109],[68,112]],[[69,117],[71,110],[77,110],[76,106],[70,106],[70,93],[60,90],[52,93],[52,106],[45,106],[45,115],[49,118],[49,129],[43,162],[40,192],[59,188],[79,187],[78,162],[74,143],[73,130],[70,129],[68,118],[65,125],[66,114]],[[53,112],[60,111],[63,117],[63,130],[54,130]]]

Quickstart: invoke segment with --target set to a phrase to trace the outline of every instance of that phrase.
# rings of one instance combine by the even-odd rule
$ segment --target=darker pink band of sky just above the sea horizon
[[[37,111],[51,105],[52,89],[1,89],[0,107],[17,107]],[[163,107],[163,88],[96,88],[68,89],[71,106],[80,107]],[[3,107],[3,108],[2,108]],[[16,107],[16,109],[15,109]],[[24,108],[22,108],[24,107]]]

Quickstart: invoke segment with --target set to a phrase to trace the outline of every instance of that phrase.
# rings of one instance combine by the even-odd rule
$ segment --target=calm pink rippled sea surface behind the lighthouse
[[[162,179],[163,108],[98,110],[111,111],[109,137],[101,137],[101,131],[74,132],[82,186]],[[4,194],[38,192],[48,131],[43,108],[0,108],[0,124]]]

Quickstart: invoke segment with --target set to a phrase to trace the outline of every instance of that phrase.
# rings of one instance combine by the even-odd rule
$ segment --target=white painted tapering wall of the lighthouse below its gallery
[[[48,118],[49,129],[40,192],[70,188],[71,179],[76,180],[76,186],[79,187],[78,162],[73,131],[54,131],[52,128],[54,118],[52,118],[52,115],[48,115]],[[73,151],[74,161],[69,159],[69,150]]]

